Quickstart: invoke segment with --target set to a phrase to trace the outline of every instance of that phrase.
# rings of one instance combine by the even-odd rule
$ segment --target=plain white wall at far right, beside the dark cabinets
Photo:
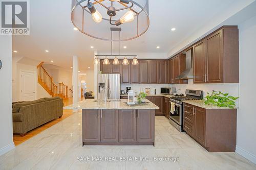
[[[240,87],[237,152],[256,163],[256,16],[239,25]]]

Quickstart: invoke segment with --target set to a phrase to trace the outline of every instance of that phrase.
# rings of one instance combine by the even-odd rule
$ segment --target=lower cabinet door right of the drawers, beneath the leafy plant
[[[195,107],[195,138],[205,144],[205,109]]]

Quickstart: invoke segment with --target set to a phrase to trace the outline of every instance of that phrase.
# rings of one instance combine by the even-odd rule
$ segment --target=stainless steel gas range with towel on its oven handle
[[[178,94],[170,97],[170,124],[172,124],[180,132],[183,131],[183,102],[189,100],[201,100],[203,99],[203,91],[201,90],[188,90],[186,89],[186,95]]]

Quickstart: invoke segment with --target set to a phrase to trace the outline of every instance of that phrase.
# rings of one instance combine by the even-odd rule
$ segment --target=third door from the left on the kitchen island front
[[[136,110],[119,110],[119,142],[136,142]]]

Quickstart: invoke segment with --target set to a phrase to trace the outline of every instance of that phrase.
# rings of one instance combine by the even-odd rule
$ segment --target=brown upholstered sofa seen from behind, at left
[[[62,114],[63,102],[59,97],[13,103],[13,133],[25,135],[28,131],[61,117]]]

